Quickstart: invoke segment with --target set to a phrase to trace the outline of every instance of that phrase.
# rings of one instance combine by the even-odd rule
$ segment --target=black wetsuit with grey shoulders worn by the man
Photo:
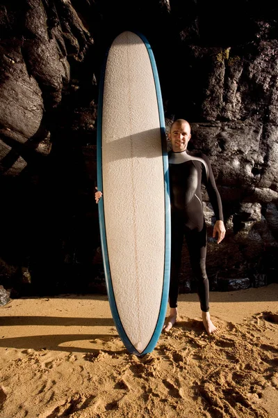
[[[183,237],[186,237],[190,263],[197,279],[201,309],[209,310],[208,277],[206,275],[206,223],[202,206],[201,185],[206,186],[216,220],[223,220],[220,194],[215,185],[211,164],[206,155],[199,153],[169,154],[171,190],[171,278],[170,307],[177,307],[179,269]]]

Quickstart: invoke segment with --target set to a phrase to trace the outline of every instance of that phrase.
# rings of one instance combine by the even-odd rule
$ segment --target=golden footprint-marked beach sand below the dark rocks
[[[197,295],[143,358],[126,352],[105,295],[0,307],[0,418],[278,417],[278,284]]]

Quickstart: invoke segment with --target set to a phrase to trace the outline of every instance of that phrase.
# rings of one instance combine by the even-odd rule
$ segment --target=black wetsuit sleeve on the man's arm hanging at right
[[[206,170],[203,169],[203,183],[206,186],[206,190],[208,192],[208,197],[211,202],[211,206],[213,207],[213,211],[216,217],[216,220],[223,221],[223,210],[222,210],[222,201],[220,198],[220,194],[218,192],[218,188],[215,184],[215,178],[213,176],[213,170],[211,169],[211,163],[208,160],[206,155],[202,155],[203,160],[206,162],[208,167],[208,173]]]

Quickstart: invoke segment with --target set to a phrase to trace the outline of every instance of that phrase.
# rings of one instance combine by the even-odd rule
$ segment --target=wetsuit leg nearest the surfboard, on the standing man
[[[181,250],[183,246],[183,222],[172,215],[171,222],[171,275],[169,289],[170,308],[177,308],[179,295],[179,269],[181,268]]]

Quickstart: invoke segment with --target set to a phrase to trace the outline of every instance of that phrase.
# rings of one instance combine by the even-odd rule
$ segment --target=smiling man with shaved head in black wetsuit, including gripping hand
[[[208,305],[208,277],[206,276],[206,224],[202,206],[201,185],[206,186],[216,222],[213,238],[218,235],[218,244],[225,235],[222,215],[222,203],[215,185],[211,164],[204,154],[188,153],[190,125],[184,119],[172,123],[169,138],[172,152],[169,154],[170,194],[171,194],[171,277],[170,277],[170,316],[165,323],[164,331],[169,331],[177,320],[177,299],[179,294],[179,268],[181,266],[181,250],[183,237],[186,237],[190,263],[197,278],[202,320],[208,334],[216,331],[211,321]],[[95,193],[98,203],[102,193]]]

